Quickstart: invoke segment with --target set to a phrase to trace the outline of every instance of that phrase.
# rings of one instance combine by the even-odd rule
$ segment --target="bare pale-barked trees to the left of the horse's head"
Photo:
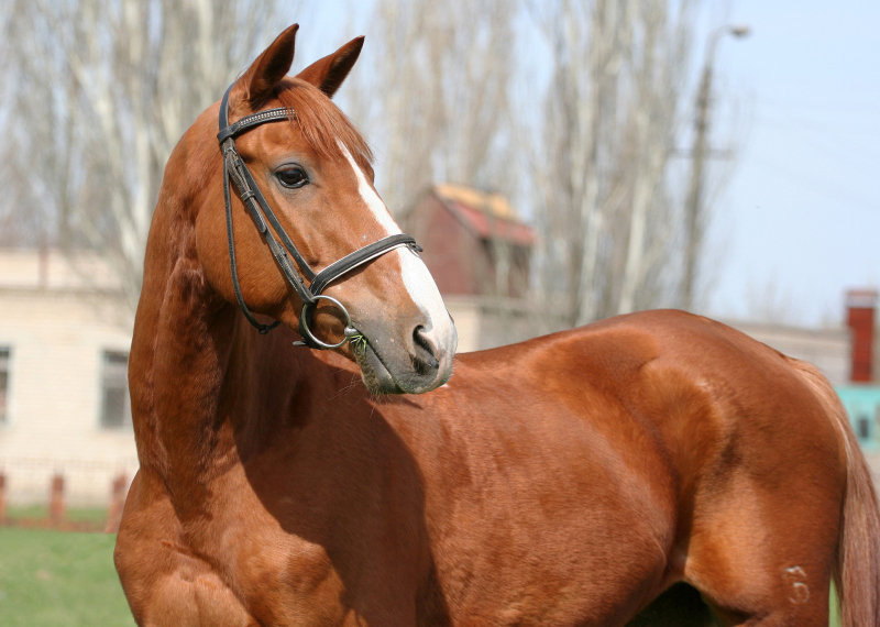
[[[134,302],[162,167],[278,25],[278,2],[16,0],[2,70],[18,212],[100,251]]]

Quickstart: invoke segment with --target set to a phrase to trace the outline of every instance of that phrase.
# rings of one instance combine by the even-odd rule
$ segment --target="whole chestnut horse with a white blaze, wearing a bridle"
[[[330,101],[362,40],[288,77],[295,34],[165,169],[116,550],[139,624],[809,626],[834,581],[877,625],[877,498],[827,382],[680,311],[450,380],[454,327]]]

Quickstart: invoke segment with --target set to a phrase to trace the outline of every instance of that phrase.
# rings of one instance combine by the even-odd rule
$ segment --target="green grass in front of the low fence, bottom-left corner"
[[[4,627],[134,625],[113,568],[116,536],[0,529]]]

